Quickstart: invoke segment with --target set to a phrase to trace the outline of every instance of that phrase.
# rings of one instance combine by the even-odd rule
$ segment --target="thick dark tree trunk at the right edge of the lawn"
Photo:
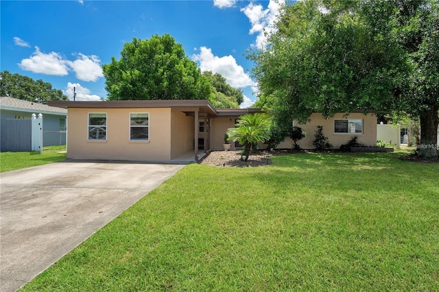
[[[425,158],[438,157],[438,106],[425,111],[420,116],[420,144],[418,153]]]

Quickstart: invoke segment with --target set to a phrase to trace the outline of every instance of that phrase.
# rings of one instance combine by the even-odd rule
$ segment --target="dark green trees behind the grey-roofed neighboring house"
[[[31,77],[9,71],[0,72],[0,96],[14,97],[44,103],[49,100],[67,100],[62,90],[52,88],[49,82],[33,80]]]

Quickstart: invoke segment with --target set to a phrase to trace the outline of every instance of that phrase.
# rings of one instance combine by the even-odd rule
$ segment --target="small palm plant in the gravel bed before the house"
[[[228,138],[244,145],[241,160],[247,161],[251,146],[270,138],[270,117],[265,113],[246,114],[235,126],[227,130]]]

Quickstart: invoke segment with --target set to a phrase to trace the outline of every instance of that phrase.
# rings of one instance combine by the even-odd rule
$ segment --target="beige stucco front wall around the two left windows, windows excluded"
[[[88,141],[88,113],[106,113],[106,141]],[[130,113],[149,113],[149,141],[130,141]],[[170,108],[69,108],[67,158],[170,160]],[[73,123],[74,121],[74,123]]]

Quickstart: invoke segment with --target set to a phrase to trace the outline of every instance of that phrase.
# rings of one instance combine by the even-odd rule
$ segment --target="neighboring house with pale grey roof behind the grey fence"
[[[31,119],[43,114],[43,146],[66,143],[67,110],[23,99],[0,97],[0,119]],[[0,123],[1,123],[0,121]],[[4,131],[2,130],[4,133]],[[4,137],[0,137],[4,138]]]

